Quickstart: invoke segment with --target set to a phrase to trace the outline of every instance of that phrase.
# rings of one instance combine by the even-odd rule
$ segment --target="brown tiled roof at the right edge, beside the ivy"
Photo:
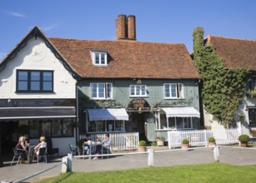
[[[227,67],[256,71],[256,41],[208,35],[207,42],[213,45]]]

